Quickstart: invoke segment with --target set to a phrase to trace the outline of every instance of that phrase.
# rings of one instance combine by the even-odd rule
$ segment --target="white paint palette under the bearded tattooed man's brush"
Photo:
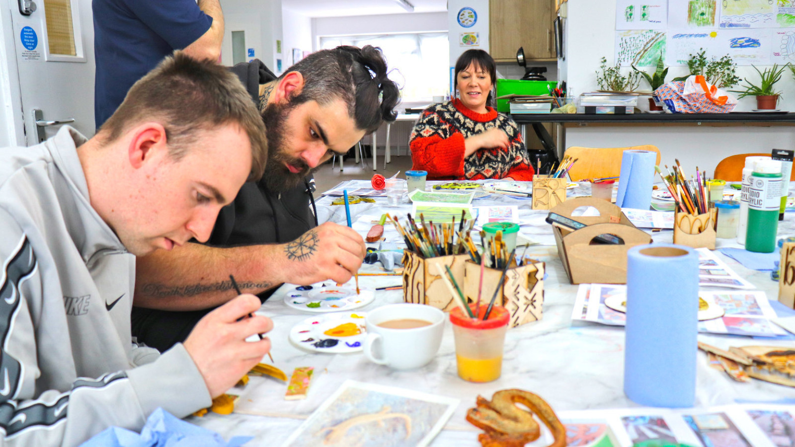
[[[285,294],[285,304],[306,312],[339,312],[368,305],[375,297],[373,290],[365,287],[359,287],[359,292],[356,294],[355,289],[337,287],[334,283],[298,286]]]

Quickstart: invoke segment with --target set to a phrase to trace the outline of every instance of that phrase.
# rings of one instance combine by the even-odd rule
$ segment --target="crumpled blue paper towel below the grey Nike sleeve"
[[[211,430],[194,426],[158,408],[146,419],[141,434],[111,427],[80,447],[239,447],[251,437],[233,437],[228,442]]]

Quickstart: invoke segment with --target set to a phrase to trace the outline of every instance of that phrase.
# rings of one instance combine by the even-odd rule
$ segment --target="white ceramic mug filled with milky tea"
[[[427,326],[408,329],[378,326],[392,320],[424,320]],[[367,338],[364,355],[370,361],[395,369],[411,369],[428,364],[442,341],[444,312],[430,305],[385,305],[367,313]]]

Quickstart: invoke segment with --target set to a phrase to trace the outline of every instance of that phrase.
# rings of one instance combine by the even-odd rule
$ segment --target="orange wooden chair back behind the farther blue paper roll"
[[[566,155],[578,158],[577,162],[568,171],[572,181],[582,181],[588,178],[619,177],[621,173],[621,158],[625,150],[651,150],[657,153],[657,162],[660,164],[660,150],[657,146],[643,145],[630,147],[580,147],[572,146],[566,150]]]

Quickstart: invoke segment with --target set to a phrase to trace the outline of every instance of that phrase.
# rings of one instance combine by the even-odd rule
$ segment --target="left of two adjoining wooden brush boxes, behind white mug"
[[[403,251],[403,301],[414,304],[432,305],[436,309],[449,312],[457,306],[450,290],[444,284],[442,274],[447,274],[444,266],[449,266],[453,278],[463,292],[463,264],[469,255],[437,256],[424,258],[413,251]],[[455,289],[455,286],[454,286]],[[458,300],[458,297],[455,297]]]

